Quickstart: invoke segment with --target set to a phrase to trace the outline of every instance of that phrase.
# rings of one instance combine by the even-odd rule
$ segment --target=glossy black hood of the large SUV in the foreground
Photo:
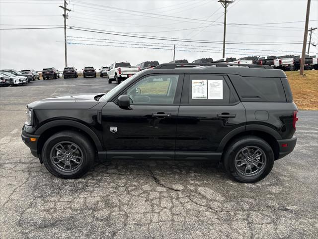
[[[52,98],[35,101],[27,105],[30,109],[44,110],[44,109],[90,109],[99,104],[94,98],[102,96],[104,93],[90,93],[84,95],[69,95],[69,96],[57,96]]]

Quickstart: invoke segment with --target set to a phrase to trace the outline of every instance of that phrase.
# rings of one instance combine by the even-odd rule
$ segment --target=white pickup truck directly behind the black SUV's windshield
[[[120,84],[123,80],[139,72],[138,66],[131,66],[129,62],[115,62],[110,65],[107,72],[108,83],[116,81],[116,84]]]

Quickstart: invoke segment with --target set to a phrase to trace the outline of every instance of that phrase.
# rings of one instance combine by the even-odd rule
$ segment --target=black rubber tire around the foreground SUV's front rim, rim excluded
[[[52,162],[55,160],[51,159],[51,154],[54,152],[55,146],[58,145],[60,142],[74,143],[79,148],[78,150],[82,156],[81,161],[79,161],[80,164],[77,166],[77,164],[74,163],[74,159],[72,159],[73,161],[70,160],[70,163],[73,162],[73,166],[75,166],[74,172],[67,172],[63,170],[62,168],[60,168],[59,164],[54,164]],[[75,132],[75,131],[69,131],[69,130],[61,131],[56,134],[53,134],[44,143],[43,149],[42,149],[43,163],[44,163],[44,166],[47,168],[47,170],[56,177],[79,178],[83,176],[89,170],[90,166],[94,162],[95,153],[93,148],[94,146],[92,145],[92,143],[83,134],[79,132]],[[72,155],[73,154],[71,154],[70,157]],[[62,160],[65,161],[66,159],[62,159]],[[61,164],[63,164],[63,161],[61,162]]]

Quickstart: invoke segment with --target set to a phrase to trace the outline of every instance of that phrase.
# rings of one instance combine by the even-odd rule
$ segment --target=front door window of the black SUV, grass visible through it
[[[127,90],[133,105],[173,104],[178,75],[148,76]]]

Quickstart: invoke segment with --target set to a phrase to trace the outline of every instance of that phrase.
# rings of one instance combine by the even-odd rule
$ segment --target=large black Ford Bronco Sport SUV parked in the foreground
[[[256,182],[294,149],[297,107],[282,70],[240,66],[161,64],[106,94],[33,102],[22,139],[62,178],[85,174],[98,155],[214,160],[239,182]]]

